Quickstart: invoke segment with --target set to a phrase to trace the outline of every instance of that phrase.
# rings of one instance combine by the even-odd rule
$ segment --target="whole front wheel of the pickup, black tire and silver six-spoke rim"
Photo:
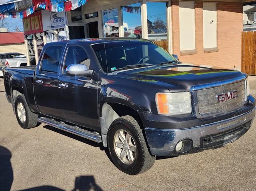
[[[108,129],[108,149],[118,169],[130,175],[148,171],[155,162],[151,156],[138,122],[123,116]]]

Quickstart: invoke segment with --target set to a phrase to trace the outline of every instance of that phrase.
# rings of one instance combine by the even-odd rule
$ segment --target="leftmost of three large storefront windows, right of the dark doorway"
[[[104,37],[119,37],[117,8],[102,11]]]

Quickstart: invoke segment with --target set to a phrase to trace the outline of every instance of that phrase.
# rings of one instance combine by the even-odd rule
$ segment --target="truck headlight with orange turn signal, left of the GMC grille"
[[[158,114],[176,115],[191,113],[189,92],[156,93]]]

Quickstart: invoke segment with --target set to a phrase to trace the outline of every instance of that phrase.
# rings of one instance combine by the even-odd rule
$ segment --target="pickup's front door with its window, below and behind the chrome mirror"
[[[99,130],[97,104],[97,77],[79,77],[66,74],[70,64],[84,64],[93,70],[86,48],[70,42],[58,78],[58,102],[62,105],[61,118],[67,122]]]

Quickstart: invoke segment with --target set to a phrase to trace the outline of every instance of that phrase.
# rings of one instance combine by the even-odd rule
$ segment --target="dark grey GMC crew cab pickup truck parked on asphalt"
[[[129,38],[47,43],[37,66],[4,70],[22,128],[44,123],[102,142],[130,175],[150,169],[156,156],[215,149],[245,134],[255,116],[246,79]]]

